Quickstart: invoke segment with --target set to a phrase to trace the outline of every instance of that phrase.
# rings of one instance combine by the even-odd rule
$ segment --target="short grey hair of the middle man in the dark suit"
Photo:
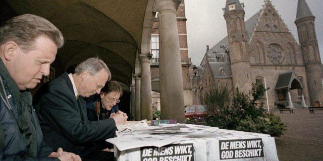
[[[91,57],[86,59],[85,61],[78,64],[75,68],[76,74],[81,74],[83,71],[89,71],[91,74],[96,74],[101,69],[105,69],[107,72],[107,75],[109,76],[109,79],[107,81],[111,80],[111,72],[110,69],[106,66],[105,62],[99,59],[98,57]]]

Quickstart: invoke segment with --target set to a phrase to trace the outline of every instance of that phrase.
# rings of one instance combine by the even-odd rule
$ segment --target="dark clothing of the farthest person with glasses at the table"
[[[119,111],[118,104],[113,106],[110,111],[102,108],[100,95],[93,95],[86,100],[87,118],[90,121],[98,121],[110,118],[112,113]],[[99,108],[100,110],[97,110]],[[99,115],[97,114],[99,113]]]

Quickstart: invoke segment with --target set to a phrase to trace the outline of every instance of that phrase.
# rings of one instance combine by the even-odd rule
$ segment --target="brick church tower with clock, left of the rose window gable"
[[[227,23],[233,87],[249,94],[252,80],[243,7],[239,0],[227,0],[223,10]]]

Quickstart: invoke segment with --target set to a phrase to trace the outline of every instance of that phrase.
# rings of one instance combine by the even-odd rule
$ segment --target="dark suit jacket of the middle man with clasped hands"
[[[82,97],[75,98],[66,72],[41,87],[35,97],[45,143],[54,149],[62,147],[84,155],[91,153],[93,142],[115,136],[114,119],[88,121],[86,102]]]

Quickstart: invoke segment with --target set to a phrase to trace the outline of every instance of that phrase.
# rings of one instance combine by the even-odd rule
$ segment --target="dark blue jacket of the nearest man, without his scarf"
[[[6,92],[5,96],[0,97],[0,123],[3,129],[5,149],[0,149],[0,160],[59,160],[55,157],[48,157],[52,152],[52,149],[44,146],[42,132],[33,107],[30,107],[30,112],[32,123],[36,130],[38,156],[36,158],[27,156],[26,150],[28,147],[26,147],[25,137],[20,133],[17,123],[17,108],[15,106],[16,103],[14,102],[15,96],[13,96],[10,89],[6,87],[5,80],[3,80],[3,83]],[[3,91],[2,85],[0,85],[0,88]],[[8,98],[12,110],[6,105],[6,98]]]

